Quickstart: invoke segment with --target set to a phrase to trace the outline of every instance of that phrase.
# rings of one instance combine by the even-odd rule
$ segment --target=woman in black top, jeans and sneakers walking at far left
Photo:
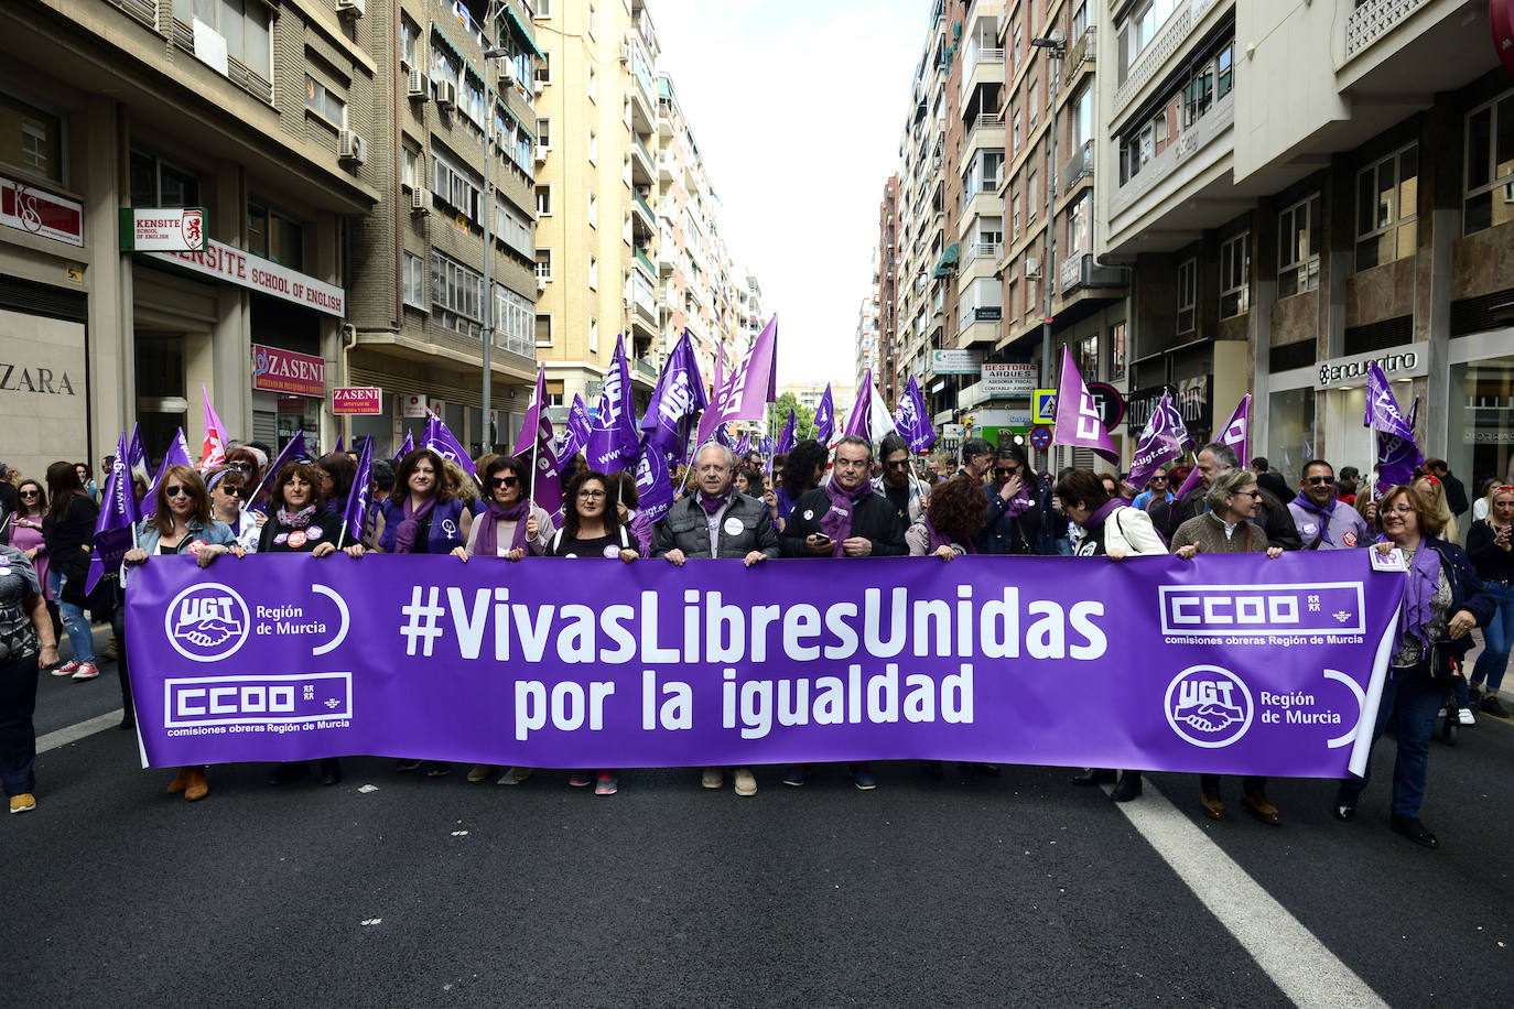
[[[73,463],[47,467],[47,516],[42,539],[47,543],[47,581],[64,613],[64,628],[74,657],[53,670],[53,676],[94,679],[100,669],[94,661],[94,634],[85,616],[85,578],[89,575],[89,554],[94,551],[94,526],[100,516]]]

